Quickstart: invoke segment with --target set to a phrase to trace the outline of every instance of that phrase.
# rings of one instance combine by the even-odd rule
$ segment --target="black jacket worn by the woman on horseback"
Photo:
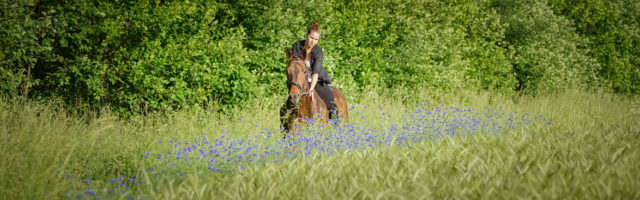
[[[293,43],[293,47],[291,48],[291,54],[293,57],[302,58],[303,53],[305,53],[304,43],[306,40],[300,40],[298,42]],[[322,67],[322,60],[324,58],[324,54],[322,53],[322,48],[316,45],[311,48],[310,53],[311,58],[309,62],[311,63],[310,69],[307,68],[307,71],[311,72],[311,74],[318,74],[318,82],[324,82],[325,84],[331,83],[331,77],[327,70]]]

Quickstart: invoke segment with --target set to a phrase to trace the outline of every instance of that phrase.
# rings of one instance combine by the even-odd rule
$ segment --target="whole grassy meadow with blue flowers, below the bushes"
[[[413,96],[285,139],[280,96],[129,118],[3,97],[0,199],[640,198],[637,97]]]

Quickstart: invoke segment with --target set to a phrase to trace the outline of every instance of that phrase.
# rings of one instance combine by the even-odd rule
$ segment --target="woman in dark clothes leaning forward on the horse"
[[[307,81],[311,83],[309,89],[309,95],[311,101],[314,101],[313,91],[317,91],[322,101],[327,104],[329,110],[329,117],[331,119],[337,118],[337,105],[329,84],[331,83],[331,77],[327,70],[322,67],[322,59],[324,57],[322,48],[318,46],[320,40],[321,30],[317,22],[311,22],[305,40],[300,40],[293,43],[291,49],[292,56],[297,58],[305,58],[304,63],[307,66]],[[303,56],[304,55],[306,56]]]

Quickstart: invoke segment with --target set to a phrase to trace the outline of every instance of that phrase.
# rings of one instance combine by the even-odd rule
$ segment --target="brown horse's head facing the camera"
[[[304,58],[294,58],[289,50],[287,50],[287,59],[289,60],[287,66],[289,96],[292,97],[290,100],[297,103],[309,87],[306,76],[307,67],[304,64]]]

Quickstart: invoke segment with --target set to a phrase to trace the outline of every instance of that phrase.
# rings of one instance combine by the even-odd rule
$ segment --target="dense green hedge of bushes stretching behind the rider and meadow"
[[[3,1],[0,92],[121,114],[223,109],[284,90],[311,21],[362,91],[640,91],[636,1]]]

